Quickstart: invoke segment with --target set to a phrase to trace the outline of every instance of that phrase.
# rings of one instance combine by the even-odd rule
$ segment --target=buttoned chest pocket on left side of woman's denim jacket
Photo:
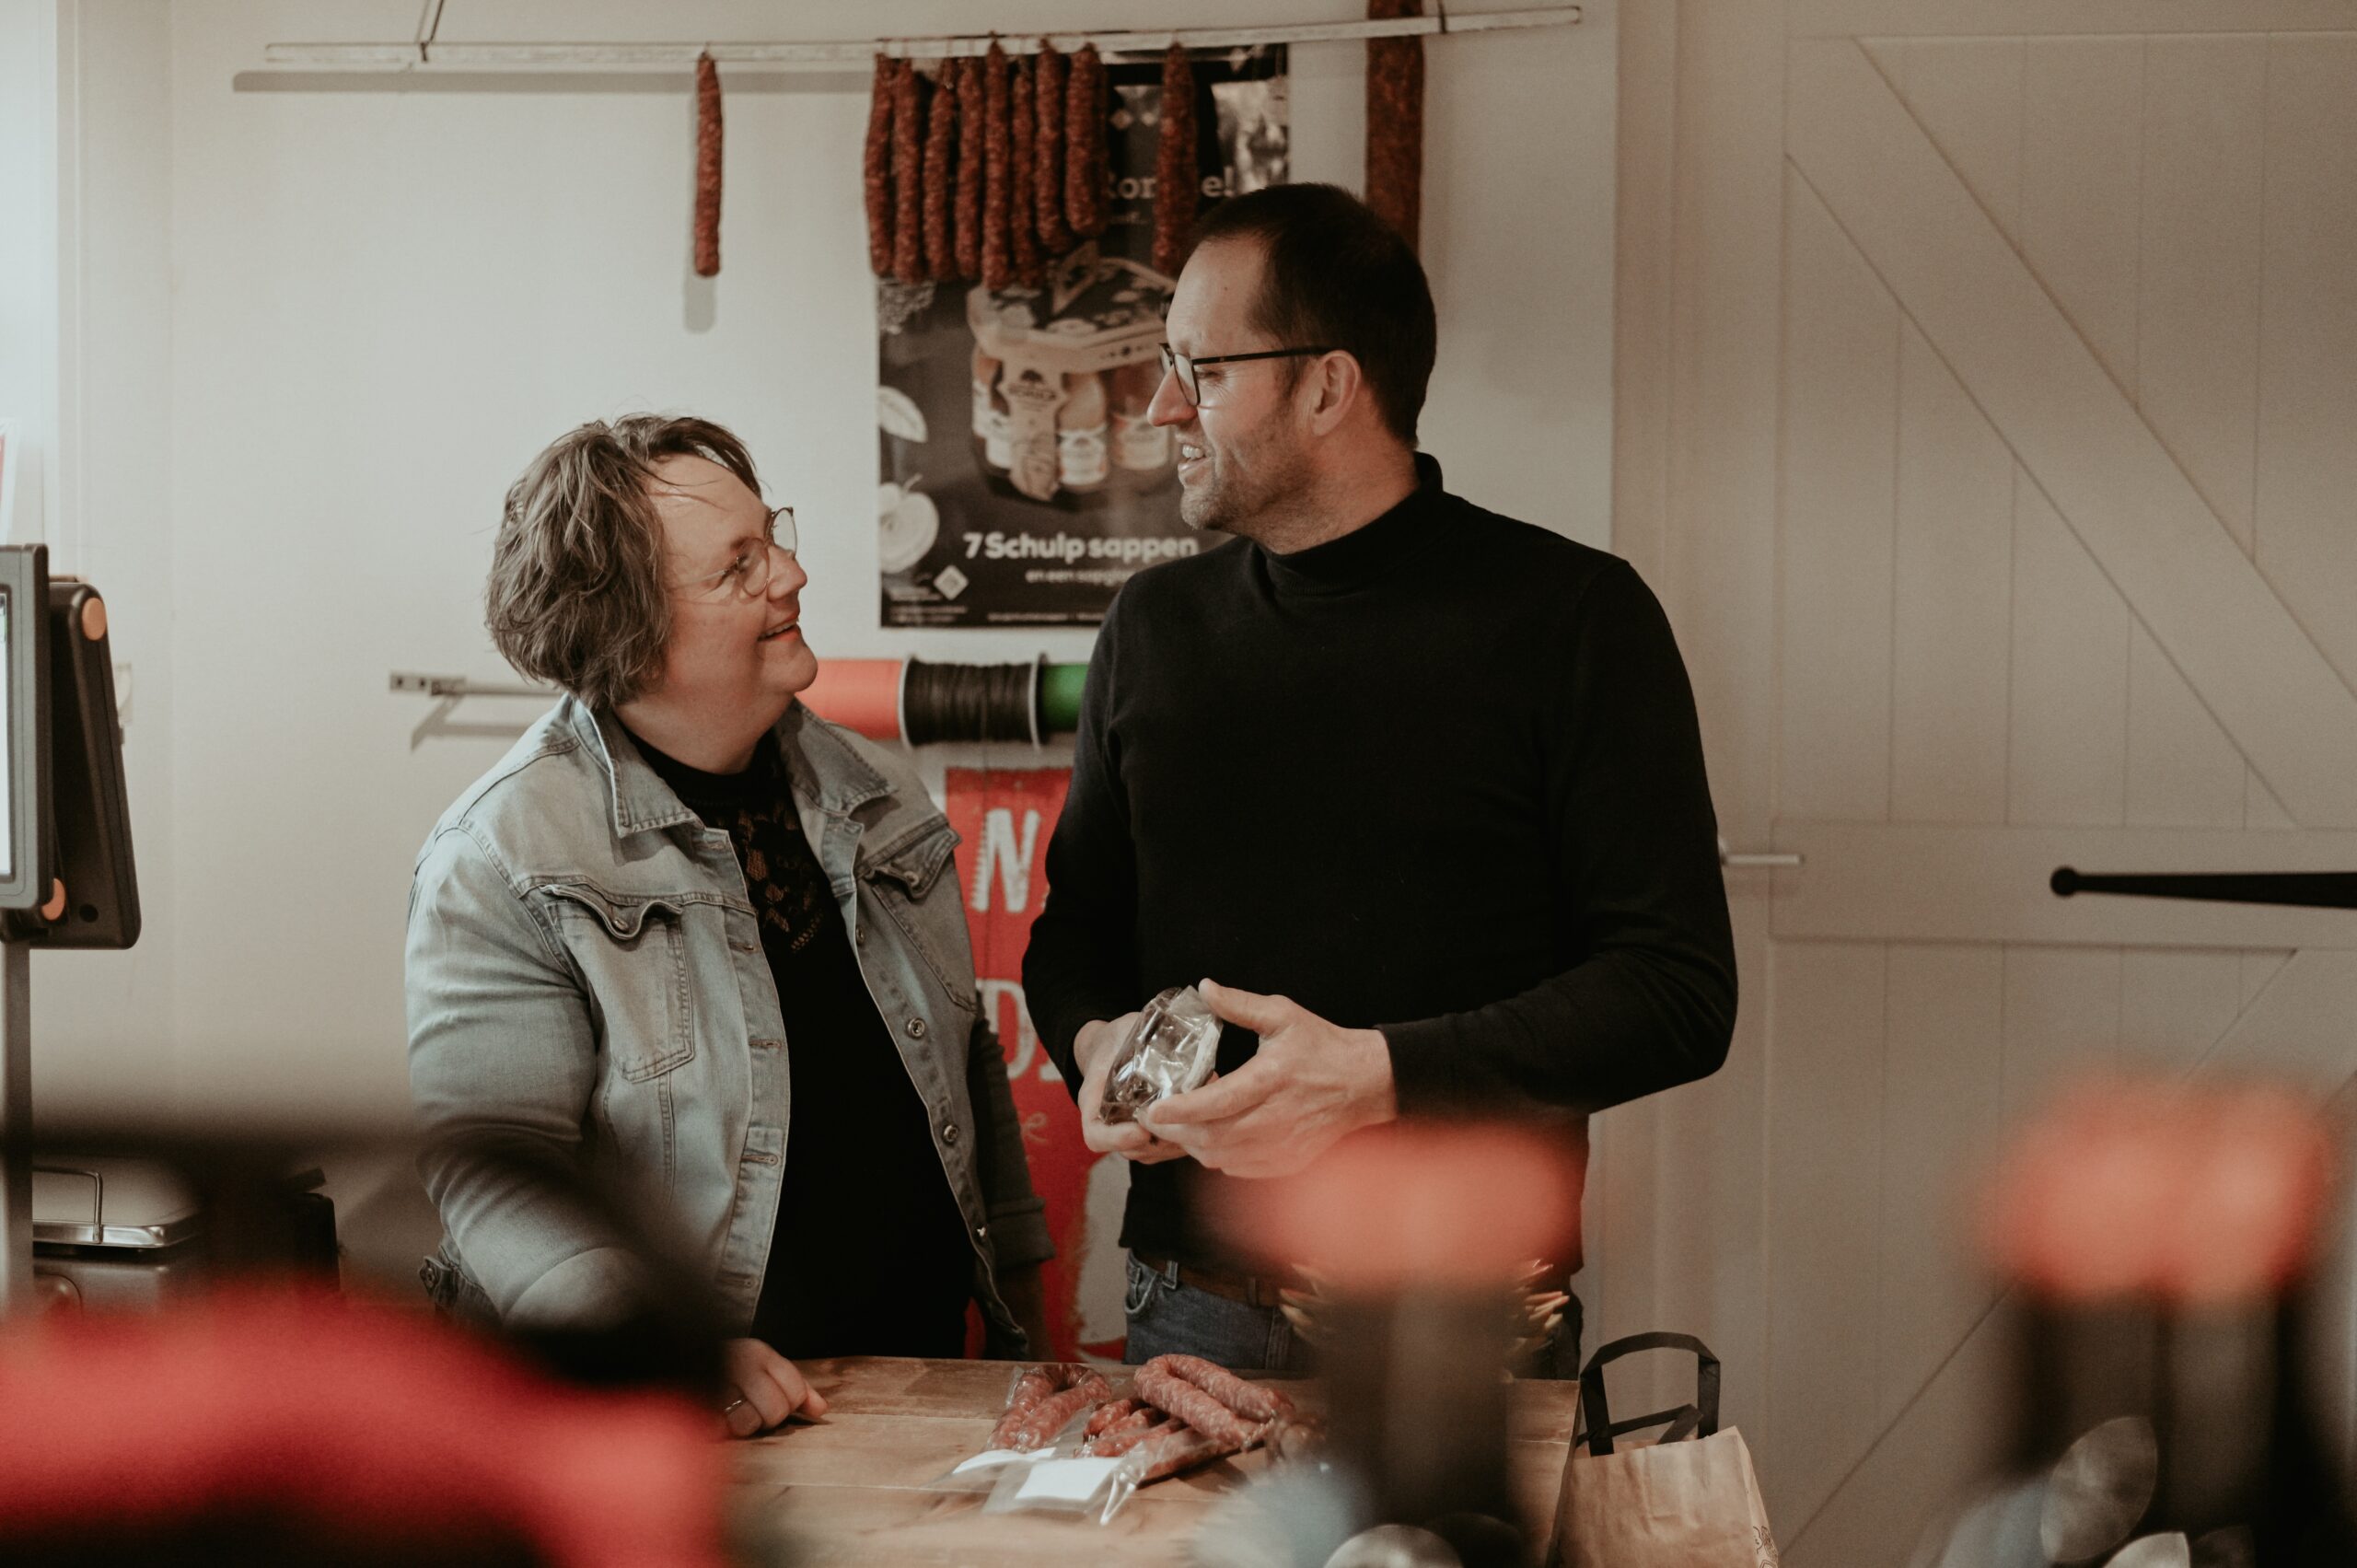
[[[599,1037],[622,1078],[646,1082],[695,1056],[688,898],[552,882],[556,931],[580,967]]]

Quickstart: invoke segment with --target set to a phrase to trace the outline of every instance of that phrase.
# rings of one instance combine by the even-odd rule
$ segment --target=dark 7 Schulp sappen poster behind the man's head
[[[1134,573],[1226,540],[1178,521],[1146,417],[1171,278],[1153,271],[1162,59],[1108,57],[1110,226],[1047,288],[877,283],[886,627],[1096,625]],[[1200,210],[1287,179],[1285,47],[1195,57]]]

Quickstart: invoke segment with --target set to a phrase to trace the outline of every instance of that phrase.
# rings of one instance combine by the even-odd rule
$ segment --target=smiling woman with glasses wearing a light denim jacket
[[[962,1353],[969,1299],[1021,1353],[1051,1252],[957,835],[905,757],[794,703],[806,580],[792,509],[717,424],[634,415],[540,453],[488,625],[566,696],[441,818],[410,891],[429,1290],[610,1318],[634,1259],[516,1170],[653,1193],[740,1335],[738,1436],[825,1410],[794,1358]]]

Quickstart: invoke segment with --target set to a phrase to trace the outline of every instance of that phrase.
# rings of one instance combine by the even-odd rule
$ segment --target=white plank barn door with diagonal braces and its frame
[[[1591,1294],[1721,1346],[1789,1561],[1902,1563],[2001,1436],[1961,1198],[2020,1118],[2357,1070],[2357,915],[2048,891],[2357,868],[2357,7],[1622,28],[1622,549],[1805,865],[1730,872],[1728,1073],[1603,1118]]]

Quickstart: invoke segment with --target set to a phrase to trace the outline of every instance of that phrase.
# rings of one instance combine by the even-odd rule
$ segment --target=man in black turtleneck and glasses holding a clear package
[[[1584,1160],[1586,1113],[1725,1059],[1735,953],[1652,594],[1414,448],[1414,252],[1334,186],[1233,198],[1167,337],[1181,516],[1240,542],[1105,615],[1023,981],[1089,1146],[1136,1162],[1129,1358],[1282,1368],[1285,1280],[1207,1214],[1400,1115],[1553,1118]],[[1221,1078],[1108,1127],[1134,1012],[1200,979]]]

